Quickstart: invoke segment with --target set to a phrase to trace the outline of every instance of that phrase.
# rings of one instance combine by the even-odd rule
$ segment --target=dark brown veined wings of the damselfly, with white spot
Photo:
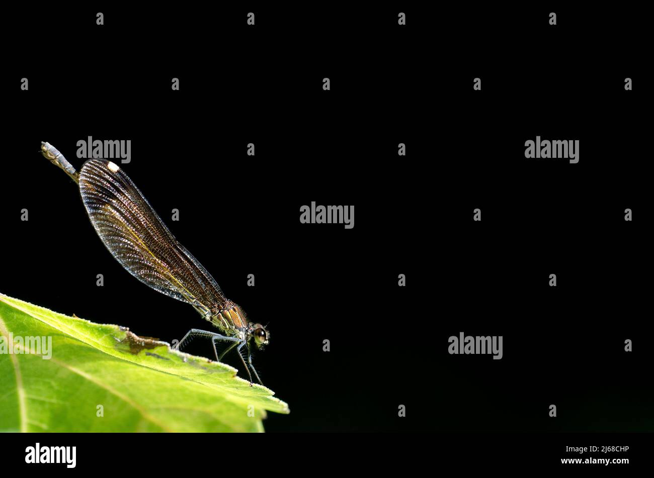
[[[118,165],[90,159],[82,166],[79,180],[95,232],[129,274],[160,293],[188,302],[205,318],[224,308],[228,300],[211,274],[177,242]]]

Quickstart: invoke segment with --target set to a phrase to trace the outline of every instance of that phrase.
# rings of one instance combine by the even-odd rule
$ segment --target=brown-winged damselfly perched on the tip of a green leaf
[[[192,336],[211,338],[216,360],[236,349],[250,385],[248,367],[262,383],[252,366],[252,348],[267,345],[266,327],[249,322],[245,312],[223,295],[211,274],[177,242],[127,174],[106,159],[89,159],[77,171],[49,143],[41,142],[41,153],[79,185],[95,232],[129,274],[162,294],[188,302],[222,332],[192,328],[175,347],[182,347]],[[216,342],[227,343],[220,355]],[[247,364],[241,355],[244,346]]]

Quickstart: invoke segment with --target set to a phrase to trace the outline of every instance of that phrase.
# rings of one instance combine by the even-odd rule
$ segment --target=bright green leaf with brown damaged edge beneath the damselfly
[[[49,351],[25,342],[36,337]],[[3,432],[261,432],[266,410],[288,413],[236,372],[0,294]]]

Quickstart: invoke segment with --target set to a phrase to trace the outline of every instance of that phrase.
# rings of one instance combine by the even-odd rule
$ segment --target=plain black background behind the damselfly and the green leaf
[[[123,169],[228,298],[270,323],[254,363],[291,413],[266,430],[654,430],[641,12],[107,7],[11,21],[29,39],[3,78],[3,293],[168,342],[205,327],[122,270],[39,153],[48,141],[80,167],[78,140],[129,139]],[[579,163],[525,159],[536,135],[578,139]],[[354,204],[354,229],[301,225],[312,200]],[[504,358],[449,355],[461,331],[504,336]]]

